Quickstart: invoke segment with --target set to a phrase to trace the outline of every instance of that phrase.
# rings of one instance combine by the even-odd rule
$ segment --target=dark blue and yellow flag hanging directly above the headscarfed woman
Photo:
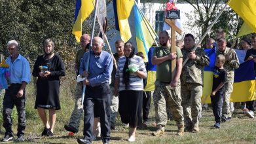
[[[116,22],[116,29],[120,30],[120,36],[124,43],[132,37],[128,22],[132,7],[134,7],[134,0],[113,0],[115,21],[119,24],[119,27],[117,27]]]

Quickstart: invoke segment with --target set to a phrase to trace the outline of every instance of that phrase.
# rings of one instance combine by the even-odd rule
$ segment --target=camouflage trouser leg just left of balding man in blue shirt
[[[71,114],[69,125],[79,130],[80,120],[84,114],[82,100],[82,82],[77,82],[77,89],[75,90],[75,108]]]

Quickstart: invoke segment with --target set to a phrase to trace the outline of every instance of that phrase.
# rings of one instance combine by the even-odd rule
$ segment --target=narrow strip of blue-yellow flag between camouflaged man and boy
[[[201,101],[204,101],[204,98],[207,97],[204,103],[211,103],[211,92],[212,92],[212,84],[213,84],[213,70],[215,66],[215,57],[216,57],[216,48],[205,49],[206,53],[210,58],[210,64],[204,67],[204,88],[203,88],[203,96]]]

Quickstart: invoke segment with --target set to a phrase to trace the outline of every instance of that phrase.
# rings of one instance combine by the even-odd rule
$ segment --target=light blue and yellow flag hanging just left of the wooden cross
[[[154,39],[156,39],[157,35],[155,31],[153,31],[152,27],[148,24],[148,22],[146,21],[145,23],[143,21],[143,18],[139,11],[143,15],[143,18],[146,20],[141,9],[137,9],[136,4],[134,4],[137,51],[143,52],[145,56],[145,62],[148,62],[151,57],[147,57],[147,53],[149,51],[149,48],[151,48],[151,46],[153,45]],[[147,27],[149,27],[150,31]],[[151,37],[151,33],[154,39]]]

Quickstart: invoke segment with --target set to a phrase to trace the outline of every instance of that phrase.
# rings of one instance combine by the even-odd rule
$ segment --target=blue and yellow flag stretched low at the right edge
[[[240,64],[238,69],[234,69],[234,84],[230,101],[244,102],[255,99],[254,62],[250,60]]]

